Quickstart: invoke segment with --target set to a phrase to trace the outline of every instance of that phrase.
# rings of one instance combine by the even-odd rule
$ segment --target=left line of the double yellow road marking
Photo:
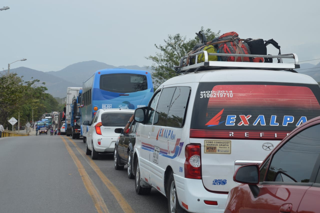
[[[69,144],[67,143],[67,141],[60,136],[63,143],[65,144],[72,160],[75,162],[79,174],[82,178],[82,181],[84,183],[85,188],[87,189],[93,203],[94,206],[96,207],[97,211],[99,213],[109,213],[109,210],[107,208],[107,205],[105,204],[105,202],[103,201],[103,198],[101,197],[99,191],[97,190],[97,188],[95,187],[95,185],[93,184],[91,178],[89,177],[88,173],[85,171],[83,165],[81,164],[80,160],[76,157],[75,153],[72,151],[71,147],[69,146]]]

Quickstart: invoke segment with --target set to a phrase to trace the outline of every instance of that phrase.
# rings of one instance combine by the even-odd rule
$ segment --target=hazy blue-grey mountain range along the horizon
[[[23,76],[22,79],[24,81],[39,79],[39,85],[42,82],[45,82],[44,86],[48,89],[46,91],[47,93],[51,94],[53,97],[64,98],[67,95],[67,87],[82,87],[83,82],[89,79],[95,71],[112,68],[146,70],[152,72],[151,70],[148,70],[147,67],[139,67],[136,65],[115,67],[99,61],[78,62],[59,71],[43,72],[27,67],[19,67],[10,69],[10,72],[15,72],[20,77]],[[303,63],[300,64],[300,69],[296,70],[311,76],[316,82],[320,82],[320,63],[317,65]],[[0,74],[4,74],[5,72],[7,72],[7,70],[0,71]]]

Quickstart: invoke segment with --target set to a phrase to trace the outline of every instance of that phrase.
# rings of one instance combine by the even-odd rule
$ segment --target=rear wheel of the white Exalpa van
[[[177,191],[176,191],[176,184],[173,178],[173,171],[171,171],[169,176],[169,181],[167,184],[167,199],[168,199],[168,210],[172,213],[185,213],[186,211],[182,209],[179,204]]]

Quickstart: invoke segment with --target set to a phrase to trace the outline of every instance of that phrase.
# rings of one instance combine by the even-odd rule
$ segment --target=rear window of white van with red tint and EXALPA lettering
[[[247,138],[248,130],[270,138],[278,132],[284,137],[320,115],[319,95],[317,85],[200,83],[191,129],[221,130],[222,135],[236,132]]]

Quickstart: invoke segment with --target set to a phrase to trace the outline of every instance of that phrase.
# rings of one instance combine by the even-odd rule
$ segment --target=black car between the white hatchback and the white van
[[[115,133],[119,133],[114,150],[115,169],[120,170],[128,164],[128,177],[133,179],[134,174],[132,170],[132,156],[133,147],[136,143],[136,132],[139,123],[132,121],[129,126],[128,133],[124,133],[122,128],[116,128]]]

